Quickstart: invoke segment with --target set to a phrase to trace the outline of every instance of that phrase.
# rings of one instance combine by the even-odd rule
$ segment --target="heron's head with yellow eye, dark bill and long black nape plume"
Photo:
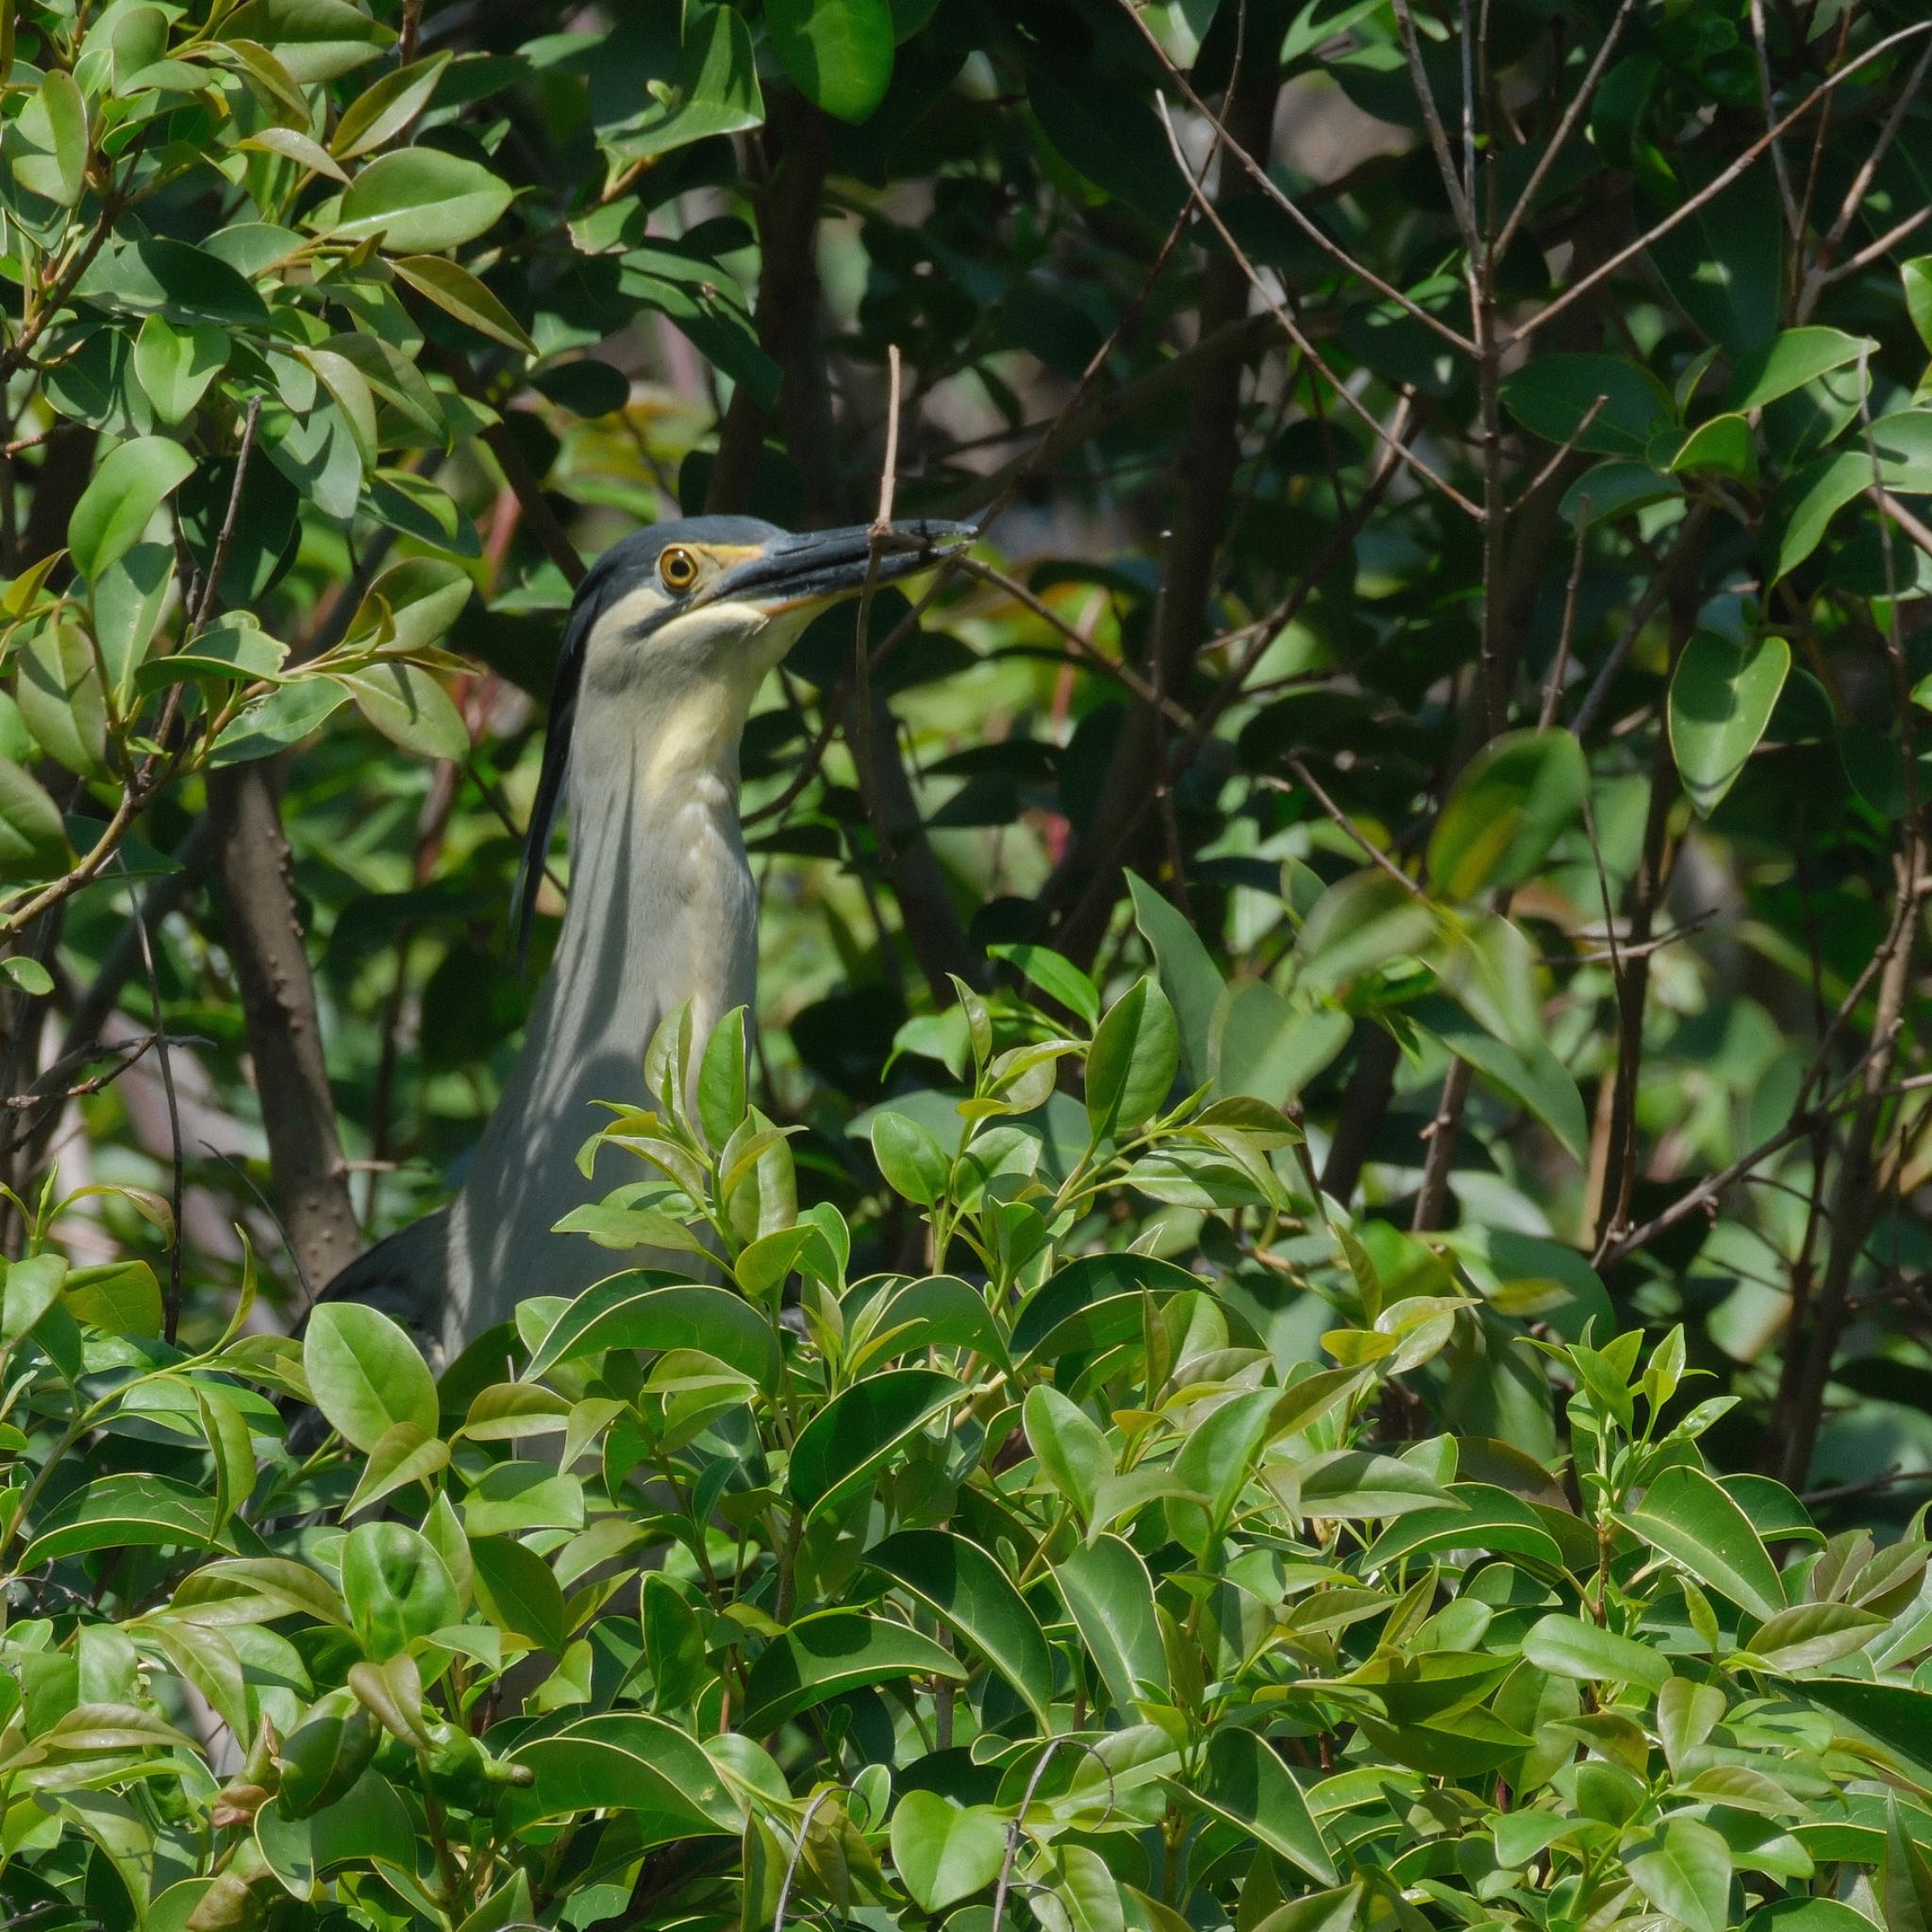
[[[556,661],[512,902],[518,960],[583,699],[638,711],[665,738],[728,738],[736,748],[757,686],[811,618],[867,580],[895,583],[929,570],[974,535],[970,524],[925,520],[792,533],[750,516],[692,516],[605,551],[578,585]]]

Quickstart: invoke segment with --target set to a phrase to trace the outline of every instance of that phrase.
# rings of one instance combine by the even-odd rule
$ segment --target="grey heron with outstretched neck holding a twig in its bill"
[[[639,529],[591,566],[564,626],[510,906],[522,962],[568,796],[570,893],[524,1047],[454,1202],[352,1262],[325,1300],[383,1308],[446,1366],[520,1300],[611,1271],[605,1250],[553,1233],[593,1198],[576,1153],[595,1103],[647,1103],[643,1051],[684,1003],[699,1039],[753,1003],[738,744],[757,690],[829,605],[972,537],[970,524],[790,533],[699,516]]]

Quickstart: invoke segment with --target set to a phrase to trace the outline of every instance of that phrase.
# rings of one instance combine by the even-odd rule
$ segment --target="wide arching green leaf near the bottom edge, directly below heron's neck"
[[[746,1729],[753,1729],[750,1714]],[[512,1756],[535,1774],[535,1783],[512,1799],[518,1818],[643,1812],[665,1822],[665,1837],[736,1833],[744,1826],[717,1766],[694,1737],[663,1718],[580,1718],[549,1737],[526,1739]]]

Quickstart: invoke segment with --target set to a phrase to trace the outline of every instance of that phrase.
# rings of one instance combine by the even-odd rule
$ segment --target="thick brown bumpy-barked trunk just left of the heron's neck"
[[[361,1235],[323,1066],[282,811],[267,763],[209,775],[216,871],[269,1132],[276,1211],[311,1291],[355,1260]]]

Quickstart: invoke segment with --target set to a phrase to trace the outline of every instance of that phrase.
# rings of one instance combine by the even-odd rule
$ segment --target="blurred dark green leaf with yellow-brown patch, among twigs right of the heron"
[[[1567,730],[1505,732],[1457,779],[1430,835],[1430,877],[1445,898],[1522,885],[1582,810],[1590,775]]]

